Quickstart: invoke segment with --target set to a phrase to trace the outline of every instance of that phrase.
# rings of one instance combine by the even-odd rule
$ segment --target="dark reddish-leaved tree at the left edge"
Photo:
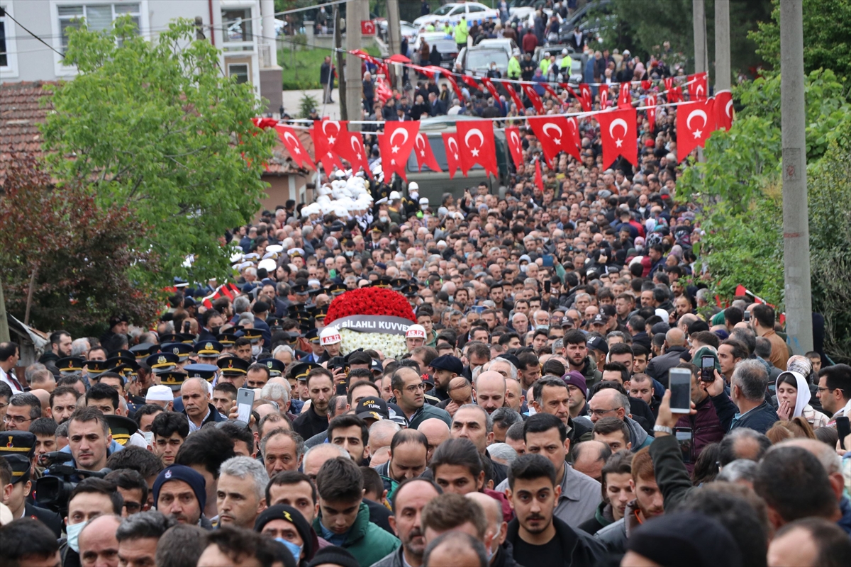
[[[156,290],[131,279],[159,258],[127,207],[101,207],[81,184],[55,189],[32,156],[11,155],[0,200],[0,265],[7,308],[39,329],[88,336],[115,313],[154,319]]]

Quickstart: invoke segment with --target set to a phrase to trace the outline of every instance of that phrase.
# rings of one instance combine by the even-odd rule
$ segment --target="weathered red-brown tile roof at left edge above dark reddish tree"
[[[0,184],[10,152],[41,154],[38,123],[53,109],[42,100],[49,96],[45,85],[56,82],[4,82],[0,84]]]

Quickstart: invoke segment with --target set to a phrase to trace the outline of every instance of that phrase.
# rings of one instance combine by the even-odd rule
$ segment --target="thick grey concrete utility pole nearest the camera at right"
[[[780,127],[783,141],[783,275],[786,332],[795,354],[813,349],[809,280],[807,145],[801,0],[780,0]]]

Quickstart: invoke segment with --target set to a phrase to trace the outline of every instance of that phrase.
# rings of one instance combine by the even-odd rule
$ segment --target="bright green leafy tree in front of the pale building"
[[[229,273],[222,239],[260,209],[275,138],[251,122],[264,108],[251,86],[224,77],[220,52],[194,34],[176,20],[149,43],[129,17],[71,30],[65,63],[78,75],[55,89],[43,126],[60,188],[78,184],[149,227],[162,270],[136,277],[158,285],[186,276],[189,255],[196,281]]]

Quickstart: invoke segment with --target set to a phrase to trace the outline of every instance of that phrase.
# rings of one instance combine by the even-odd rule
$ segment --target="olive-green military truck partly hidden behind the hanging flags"
[[[420,121],[420,132],[426,134],[426,139],[431,145],[431,152],[437,160],[437,165],[443,169],[443,173],[432,172],[428,167],[423,167],[420,172],[417,167],[417,158],[414,152],[408,157],[408,165],[406,166],[405,174],[408,177],[408,183],[416,181],[420,185],[420,196],[427,197],[431,203],[439,203],[443,198],[444,193],[452,193],[459,199],[464,196],[464,190],[468,187],[474,187],[482,182],[487,183],[490,192],[497,194],[500,192],[500,187],[508,182],[509,162],[511,157],[508,155],[508,145],[505,142],[505,131],[494,130],[494,145],[496,146],[496,164],[500,171],[499,179],[484,173],[484,168],[479,165],[473,166],[467,176],[464,177],[460,171],[455,173],[454,179],[449,179],[448,164],[446,162],[446,148],[443,146],[443,132],[452,132],[455,129],[455,122],[462,120],[475,120],[472,116],[455,115],[455,116],[433,116]]]

